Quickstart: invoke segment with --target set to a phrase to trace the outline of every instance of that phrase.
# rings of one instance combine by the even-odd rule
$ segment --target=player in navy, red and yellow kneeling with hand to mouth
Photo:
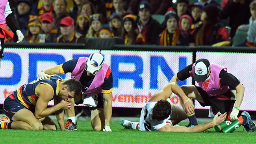
[[[0,119],[0,129],[57,130],[49,117],[55,112],[59,127],[65,130],[63,109],[70,109],[70,100],[80,96],[81,89],[77,79],[64,81],[57,75],[22,85],[4,101],[3,109],[8,118]],[[51,100],[55,105],[47,108]]]

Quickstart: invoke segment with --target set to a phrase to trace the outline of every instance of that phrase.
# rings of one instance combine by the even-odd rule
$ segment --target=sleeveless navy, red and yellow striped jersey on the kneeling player
[[[13,91],[9,97],[24,105],[27,109],[34,109],[37,99],[39,98],[39,95],[37,94],[39,84],[48,85],[49,88],[53,90],[53,100],[59,94],[59,81],[63,82],[63,79],[58,75],[51,76],[50,78],[41,81],[35,80],[22,85],[19,89]]]

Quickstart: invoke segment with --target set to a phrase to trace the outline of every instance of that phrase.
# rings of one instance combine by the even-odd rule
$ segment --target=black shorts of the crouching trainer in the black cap
[[[198,92],[200,93],[200,95],[202,96],[204,103],[200,103],[200,105],[202,105],[202,107],[205,106],[211,106],[212,108],[212,112],[213,114],[216,114],[218,112],[223,113],[227,113],[230,114],[233,107],[234,107],[234,103],[236,101],[234,100],[217,100],[214,98],[214,96],[210,96],[209,94],[206,93],[206,91],[204,91],[201,87],[198,87],[195,85],[195,87],[197,88]],[[225,92],[223,94],[224,96],[229,96],[230,97],[230,90]]]

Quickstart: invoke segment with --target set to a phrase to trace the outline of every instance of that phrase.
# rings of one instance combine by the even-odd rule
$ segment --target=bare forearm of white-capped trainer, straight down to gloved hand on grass
[[[112,92],[108,94],[103,94],[104,98],[104,115],[105,115],[105,124],[110,124],[110,119],[112,116]]]

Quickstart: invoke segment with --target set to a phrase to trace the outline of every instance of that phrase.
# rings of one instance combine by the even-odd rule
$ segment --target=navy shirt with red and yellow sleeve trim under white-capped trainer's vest
[[[78,59],[71,59],[71,60],[59,65],[60,74],[67,74],[68,72],[73,72],[73,70],[76,67],[77,62],[78,62]],[[89,86],[93,82],[94,78],[95,78],[95,76],[93,76],[93,77],[87,76],[86,70],[83,71],[83,74],[82,74],[81,78],[79,79],[79,81],[83,85],[83,88],[82,88],[83,92],[85,92],[89,88]],[[113,91],[113,76],[112,76],[111,69],[108,68],[108,70],[106,72],[106,76],[104,78],[103,85],[102,85],[102,92],[104,94],[109,94],[112,91]]]

